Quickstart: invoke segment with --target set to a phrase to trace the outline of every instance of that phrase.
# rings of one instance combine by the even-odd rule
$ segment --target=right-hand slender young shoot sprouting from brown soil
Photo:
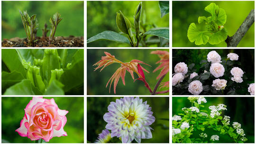
[[[55,35],[56,28],[62,19],[63,18],[61,18],[61,15],[58,12],[56,12],[54,14],[53,18],[50,18],[51,31],[50,31],[50,36],[49,36],[49,45],[51,44],[51,42],[54,38],[54,35]]]

